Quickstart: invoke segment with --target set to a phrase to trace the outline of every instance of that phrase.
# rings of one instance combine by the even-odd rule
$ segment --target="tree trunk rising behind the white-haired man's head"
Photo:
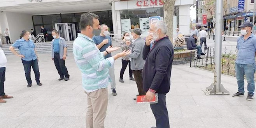
[[[169,39],[173,42],[173,16],[174,16],[174,4],[175,0],[165,0],[163,5],[164,21],[167,24],[167,34]]]

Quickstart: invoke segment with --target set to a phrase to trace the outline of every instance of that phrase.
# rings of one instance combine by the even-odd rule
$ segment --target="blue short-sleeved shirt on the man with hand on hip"
[[[18,48],[21,55],[24,55],[24,61],[34,61],[37,59],[37,55],[35,54],[35,43],[33,40],[26,41],[21,38],[16,40],[16,42],[12,45],[14,48]]]

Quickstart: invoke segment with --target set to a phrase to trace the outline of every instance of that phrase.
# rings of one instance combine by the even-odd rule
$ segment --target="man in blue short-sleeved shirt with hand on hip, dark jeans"
[[[31,35],[29,31],[23,30],[21,32],[21,35],[23,37],[19,40],[16,40],[16,42],[9,49],[14,55],[17,55],[18,57],[21,58],[21,61],[25,69],[26,80],[28,81],[27,87],[31,87],[32,85],[32,80],[30,78],[31,66],[33,68],[33,71],[35,72],[35,81],[37,81],[37,85],[41,86],[42,83],[40,83],[40,80],[39,80],[40,73],[39,73],[38,56],[37,56],[37,50],[35,49],[35,44],[32,40],[30,40]],[[15,48],[19,49],[20,54],[18,54],[15,51]]]

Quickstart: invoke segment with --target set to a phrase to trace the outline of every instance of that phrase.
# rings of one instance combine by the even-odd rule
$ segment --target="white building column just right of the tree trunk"
[[[190,25],[190,5],[180,5],[179,6],[179,30],[183,35],[189,35],[189,25]],[[174,28],[175,29],[175,28]]]

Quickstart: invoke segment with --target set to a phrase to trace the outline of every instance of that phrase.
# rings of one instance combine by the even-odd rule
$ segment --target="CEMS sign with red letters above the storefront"
[[[150,7],[163,5],[163,0],[138,0],[136,2],[138,7]]]

